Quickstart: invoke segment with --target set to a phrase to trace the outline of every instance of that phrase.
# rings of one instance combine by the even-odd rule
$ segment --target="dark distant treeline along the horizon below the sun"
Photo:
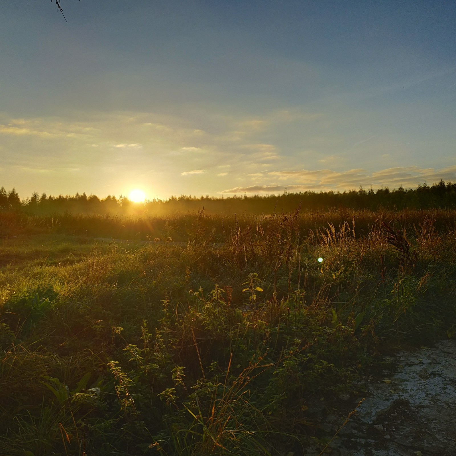
[[[166,200],[155,199],[144,203],[131,202],[127,197],[108,196],[98,198],[85,193],[74,196],[57,197],[33,193],[31,197],[21,199],[15,189],[9,192],[0,188],[0,210],[20,211],[30,215],[63,214],[111,214],[111,215],[167,215],[176,212],[206,213],[251,213],[268,214],[273,212],[295,211],[301,206],[303,211],[328,211],[346,207],[347,209],[402,210],[402,209],[454,209],[456,208],[456,182],[445,183],[441,180],[432,186],[419,185],[415,189],[389,190],[379,188],[368,191],[345,192],[299,192],[281,195],[254,195],[233,197],[192,197],[182,195]]]

